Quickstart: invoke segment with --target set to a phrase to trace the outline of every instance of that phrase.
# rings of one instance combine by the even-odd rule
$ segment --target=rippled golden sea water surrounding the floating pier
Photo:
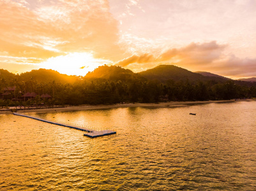
[[[256,102],[0,115],[0,190],[256,190]],[[197,113],[197,115],[189,115]]]

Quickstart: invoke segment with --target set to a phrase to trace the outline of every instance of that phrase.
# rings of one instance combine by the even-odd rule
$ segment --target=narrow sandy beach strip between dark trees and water
[[[128,103],[128,104],[109,104],[109,105],[80,105],[80,106],[64,106],[56,108],[29,108],[26,110],[18,110],[19,113],[47,113],[47,112],[61,112],[61,111],[81,111],[81,110],[103,110],[103,109],[112,109],[112,108],[176,108],[190,106],[194,104],[210,104],[210,103],[232,103],[235,101],[256,101],[255,99],[231,99],[231,100],[219,100],[219,101],[170,101],[166,103]],[[0,109],[1,114],[11,114],[11,109],[8,110]]]

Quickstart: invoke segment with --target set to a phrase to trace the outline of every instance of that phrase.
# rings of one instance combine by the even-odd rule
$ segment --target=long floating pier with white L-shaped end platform
[[[84,134],[84,136],[87,136],[89,138],[97,138],[97,137],[100,137],[100,136],[107,136],[107,135],[110,135],[110,134],[116,134],[116,131],[112,131],[112,130],[96,131],[96,130],[87,129],[87,128],[84,128],[84,127],[77,127],[75,125],[61,124],[61,123],[58,123],[58,122],[51,122],[49,120],[45,120],[45,119],[37,118],[37,117],[32,117],[32,116],[29,116],[29,115],[23,115],[23,114],[20,114],[20,113],[13,113],[13,115],[18,115],[18,116],[27,117],[27,118],[33,118],[34,120],[39,120],[41,122],[46,122],[46,123],[49,123],[49,124],[60,125],[60,126],[63,126],[63,127],[69,127],[69,128],[72,128],[72,129],[77,129],[77,130],[80,130],[80,131],[84,131],[84,132],[86,132]]]

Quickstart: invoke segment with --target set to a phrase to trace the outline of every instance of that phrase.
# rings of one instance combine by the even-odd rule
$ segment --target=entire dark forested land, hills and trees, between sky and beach
[[[119,66],[100,66],[86,76],[68,76],[50,69],[22,74],[0,69],[0,73],[0,107],[256,97],[256,82],[204,76],[172,65],[161,65],[141,73]]]

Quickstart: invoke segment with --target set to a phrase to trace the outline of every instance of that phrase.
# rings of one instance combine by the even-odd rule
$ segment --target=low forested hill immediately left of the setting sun
[[[19,76],[19,81],[36,81],[37,83],[48,83],[48,82],[58,82],[58,83],[74,83],[78,80],[77,76],[68,76],[66,74],[60,74],[52,69],[38,69],[32,70],[30,72],[21,73]]]

